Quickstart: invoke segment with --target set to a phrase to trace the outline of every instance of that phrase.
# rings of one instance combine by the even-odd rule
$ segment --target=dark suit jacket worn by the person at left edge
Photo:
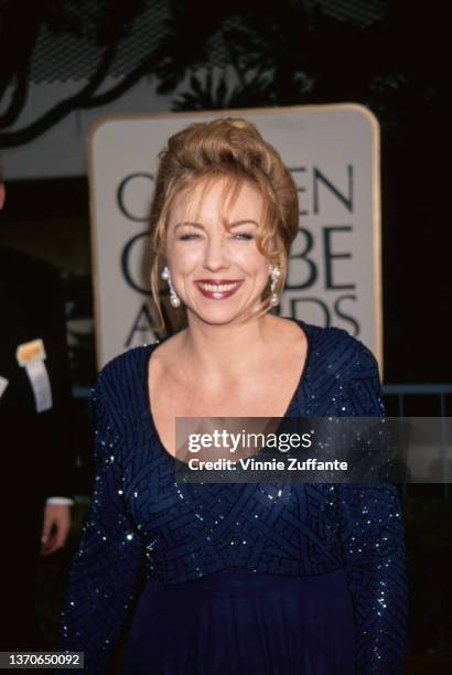
[[[71,385],[64,304],[56,269],[0,247],[1,497],[43,503],[71,496]],[[15,358],[18,345],[41,338],[53,407],[36,413],[33,390]]]

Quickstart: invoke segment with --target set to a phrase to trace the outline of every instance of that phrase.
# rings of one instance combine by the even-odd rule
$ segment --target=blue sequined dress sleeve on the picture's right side
[[[385,415],[378,366],[362,344],[344,395],[347,416]],[[357,675],[401,674],[408,590],[397,489],[387,483],[344,483],[340,486],[340,517],[357,624]]]

